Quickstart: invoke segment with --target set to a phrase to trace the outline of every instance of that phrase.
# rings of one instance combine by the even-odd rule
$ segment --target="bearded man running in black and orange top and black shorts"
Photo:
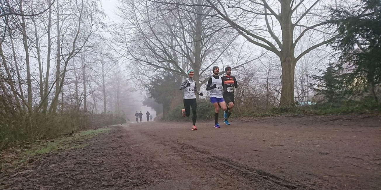
[[[234,87],[238,88],[237,80],[234,76],[231,76],[232,74],[232,68],[231,67],[225,67],[225,76],[222,76],[222,86],[223,86],[223,97],[225,102],[227,103],[226,111],[224,111],[224,123],[226,125],[230,125],[229,121],[227,120],[229,116],[232,114],[230,112],[231,109],[234,107]]]

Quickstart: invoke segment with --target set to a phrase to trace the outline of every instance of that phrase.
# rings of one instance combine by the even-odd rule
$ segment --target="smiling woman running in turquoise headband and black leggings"
[[[192,107],[192,131],[197,130],[196,128],[196,120],[197,120],[197,101],[196,94],[202,96],[202,93],[199,93],[197,90],[196,82],[193,80],[194,71],[193,69],[189,69],[187,71],[188,78],[184,79],[181,82],[180,90],[184,90],[184,109],[181,110],[182,117],[189,117],[191,114]]]

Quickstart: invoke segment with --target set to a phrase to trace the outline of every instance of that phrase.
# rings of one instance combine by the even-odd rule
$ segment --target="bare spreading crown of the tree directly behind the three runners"
[[[115,41],[131,66],[142,68],[134,70],[138,81],[147,84],[142,78],[163,71],[186,76],[192,68],[197,86],[207,82],[211,66],[220,64],[238,36],[223,21],[208,17],[211,11],[205,6],[192,12],[147,0],[122,0],[119,16],[128,25],[119,25]]]

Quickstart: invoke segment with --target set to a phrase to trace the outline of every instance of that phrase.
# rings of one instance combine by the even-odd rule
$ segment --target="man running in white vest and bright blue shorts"
[[[219,128],[218,124],[218,112],[221,107],[222,110],[226,110],[226,103],[223,98],[222,89],[222,79],[218,76],[219,68],[217,66],[213,67],[213,76],[208,80],[207,90],[210,90],[210,102],[215,107],[215,128]]]

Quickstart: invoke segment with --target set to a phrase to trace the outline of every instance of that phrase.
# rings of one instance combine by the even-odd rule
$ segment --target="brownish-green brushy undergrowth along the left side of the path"
[[[62,114],[17,112],[7,117],[0,114],[0,150],[26,142],[57,138],[73,131],[125,122],[124,118],[113,114],[91,116],[80,111]]]

